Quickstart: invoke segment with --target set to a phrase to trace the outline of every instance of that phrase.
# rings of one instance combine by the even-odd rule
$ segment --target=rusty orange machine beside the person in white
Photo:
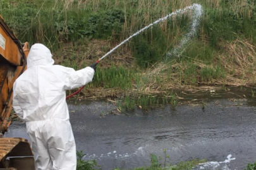
[[[13,83],[27,67],[29,44],[21,43],[0,15],[0,170],[34,170],[34,154],[27,139],[5,138],[13,117]]]

